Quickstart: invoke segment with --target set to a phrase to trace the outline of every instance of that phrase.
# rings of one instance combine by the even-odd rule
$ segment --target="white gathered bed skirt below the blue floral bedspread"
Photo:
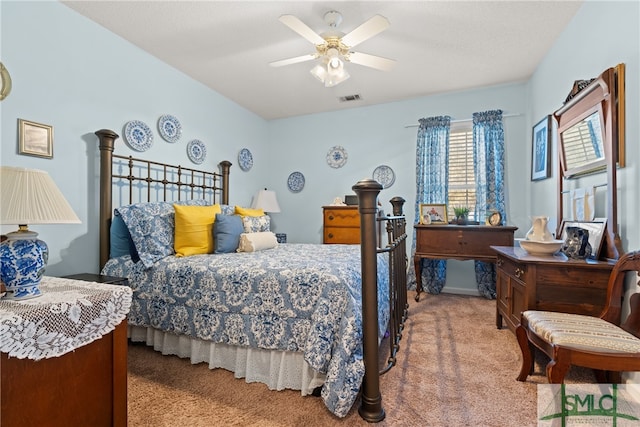
[[[314,371],[298,352],[217,344],[140,326],[129,326],[129,338],[164,355],[189,358],[192,364],[206,362],[209,369],[226,369],[236,378],[266,384],[270,390],[300,390],[306,396],[324,384],[325,375]]]

